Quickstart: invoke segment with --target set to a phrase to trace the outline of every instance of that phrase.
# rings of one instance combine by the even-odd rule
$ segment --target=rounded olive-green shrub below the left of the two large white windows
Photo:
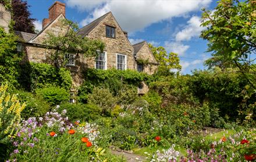
[[[108,89],[99,89],[95,87],[93,93],[88,95],[88,103],[96,104],[102,109],[102,113],[110,112],[116,105],[116,97],[113,97],[112,93]]]

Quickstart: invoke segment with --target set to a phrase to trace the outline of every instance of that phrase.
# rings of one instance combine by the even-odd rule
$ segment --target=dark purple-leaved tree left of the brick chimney
[[[33,22],[36,19],[31,19],[27,1],[12,0],[12,19],[15,21],[13,30],[35,33]]]

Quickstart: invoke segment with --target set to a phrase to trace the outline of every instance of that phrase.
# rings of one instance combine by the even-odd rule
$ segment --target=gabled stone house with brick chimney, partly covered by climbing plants
[[[49,17],[42,21],[42,31],[38,34],[15,31],[16,35],[20,37],[20,43],[24,45],[24,50],[26,50],[26,57],[24,57],[26,61],[45,62],[50,52],[50,49],[43,43],[48,32],[63,35],[67,31],[61,22],[62,19],[65,19],[65,3],[55,1],[48,12]],[[150,75],[157,71],[158,62],[147,42],[131,45],[127,32],[122,30],[111,12],[80,28],[77,34],[82,37],[101,40],[105,43],[105,49],[103,53],[98,52],[99,55],[95,58],[84,58],[81,54],[79,56],[73,53],[66,54],[66,58],[69,60],[66,67],[72,72],[73,88],[83,83],[82,72],[86,68],[133,69]],[[21,50],[22,47],[19,49]],[[140,60],[147,61],[147,64],[141,64]],[[143,85],[143,88],[138,89],[139,94],[148,91],[147,86]]]

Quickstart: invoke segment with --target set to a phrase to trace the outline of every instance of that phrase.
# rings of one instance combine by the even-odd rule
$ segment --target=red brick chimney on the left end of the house
[[[49,18],[42,20],[42,29],[44,29],[49,23],[56,19],[61,13],[65,16],[65,3],[55,1],[49,8]]]

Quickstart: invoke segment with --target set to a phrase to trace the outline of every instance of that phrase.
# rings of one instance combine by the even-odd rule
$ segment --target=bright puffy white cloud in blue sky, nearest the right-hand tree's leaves
[[[189,41],[195,36],[199,36],[204,27],[200,27],[201,19],[198,16],[193,16],[182,31],[177,32],[176,41]]]

